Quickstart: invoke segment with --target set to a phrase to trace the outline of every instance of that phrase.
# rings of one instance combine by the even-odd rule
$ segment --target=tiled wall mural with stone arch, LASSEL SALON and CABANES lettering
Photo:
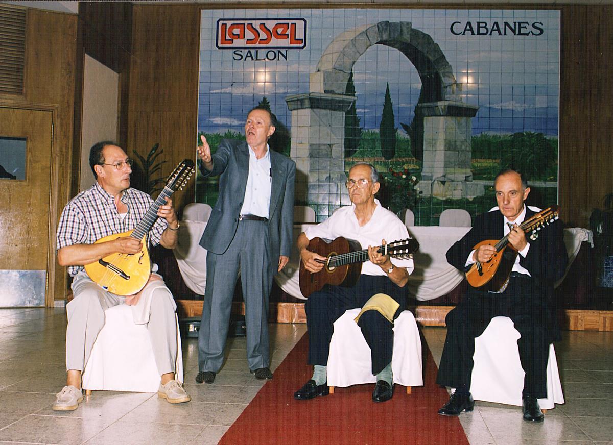
[[[215,149],[268,106],[270,145],[318,220],[349,204],[346,172],[366,161],[385,206],[435,225],[446,208],[489,209],[506,166],[531,204],[557,201],[559,77],[555,10],[203,10],[198,130]],[[215,203],[215,178],[196,187]]]

